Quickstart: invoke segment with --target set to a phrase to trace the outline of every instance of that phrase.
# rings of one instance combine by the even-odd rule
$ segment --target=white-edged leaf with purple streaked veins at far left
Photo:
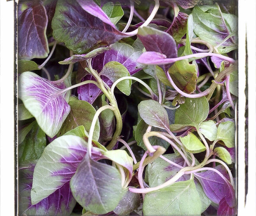
[[[70,92],[62,93],[61,89],[35,73],[24,72],[19,77],[20,99],[51,138],[60,130],[70,112],[66,101],[69,95]]]

